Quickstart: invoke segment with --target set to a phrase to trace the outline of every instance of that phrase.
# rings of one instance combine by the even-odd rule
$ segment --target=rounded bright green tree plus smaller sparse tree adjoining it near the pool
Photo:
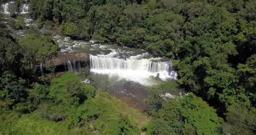
[[[224,120],[216,110],[192,93],[177,97],[172,83],[149,89],[148,113],[152,120],[144,127],[148,135],[221,135]]]

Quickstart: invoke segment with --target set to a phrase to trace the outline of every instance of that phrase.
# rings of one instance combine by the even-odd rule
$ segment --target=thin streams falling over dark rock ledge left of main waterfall
[[[80,61],[76,60],[66,60],[65,61],[65,70],[66,71],[73,71],[75,73],[81,72],[81,64]]]

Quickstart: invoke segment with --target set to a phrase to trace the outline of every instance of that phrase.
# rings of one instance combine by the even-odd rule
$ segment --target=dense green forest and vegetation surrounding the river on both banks
[[[39,29],[172,59],[190,93],[166,100],[170,83],[150,87],[139,118],[83,85],[88,67],[41,79],[38,66],[58,45],[25,27],[19,3],[8,25],[28,36],[14,39],[0,15],[1,135],[256,134],[256,0],[28,0]]]

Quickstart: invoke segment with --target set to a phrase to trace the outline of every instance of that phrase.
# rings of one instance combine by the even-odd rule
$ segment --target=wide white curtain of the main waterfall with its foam
[[[98,74],[117,75],[120,79],[126,79],[151,85],[152,77],[162,80],[176,79],[176,71],[172,71],[172,61],[156,62],[160,58],[145,59],[144,55],[130,56],[127,59],[119,59],[109,55],[90,55],[91,71]]]

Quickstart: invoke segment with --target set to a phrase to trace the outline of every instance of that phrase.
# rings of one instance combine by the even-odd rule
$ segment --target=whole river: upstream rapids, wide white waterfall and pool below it
[[[27,15],[29,5],[25,1],[23,3],[20,14],[24,16],[26,26],[35,25],[35,21]],[[14,2],[1,5],[6,19],[10,14],[8,12],[10,4]],[[20,30],[13,31],[12,35],[21,38],[26,33]],[[175,81],[177,73],[172,69],[171,60],[162,61],[161,58],[154,58],[144,50],[115,44],[96,44],[93,40],[72,40],[60,35],[55,35],[53,38],[59,44],[60,53],[85,52],[90,55],[92,84],[97,89],[108,90],[115,95],[129,95],[141,101],[147,95],[145,88],[148,86],[172,81],[175,87],[178,87]],[[73,68],[75,67],[69,64],[68,69]],[[173,94],[178,95],[178,91]]]

